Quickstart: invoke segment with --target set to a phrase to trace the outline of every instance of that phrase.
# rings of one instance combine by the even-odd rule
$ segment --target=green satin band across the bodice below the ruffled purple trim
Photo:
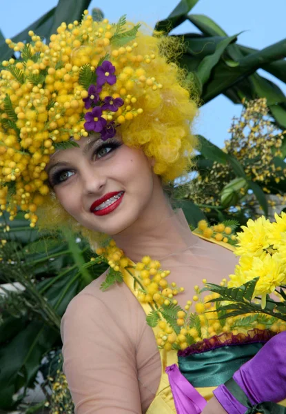
[[[263,344],[222,346],[200,354],[178,357],[178,367],[194,387],[224,384]]]

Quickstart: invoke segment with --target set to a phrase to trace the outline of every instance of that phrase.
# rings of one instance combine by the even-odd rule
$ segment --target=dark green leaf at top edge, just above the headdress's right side
[[[187,19],[187,13],[196,6],[196,3],[198,3],[198,0],[181,0],[167,19],[156,23],[155,30],[169,33]]]

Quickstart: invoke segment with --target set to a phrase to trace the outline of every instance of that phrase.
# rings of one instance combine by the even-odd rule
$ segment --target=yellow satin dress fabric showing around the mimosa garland
[[[201,236],[198,235],[198,237],[201,237]],[[205,239],[205,237],[201,237],[201,238]],[[234,250],[234,248],[230,246],[229,244],[225,244],[223,242],[216,242],[214,239],[205,239],[205,240],[207,240],[208,242],[214,242],[215,244],[219,244],[229,250]],[[132,275],[130,275],[130,273],[127,273],[127,271],[125,271],[123,273],[123,279],[127,287],[130,288],[130,290],[132,291],[133,295],[137,297],[138,291],[134,289],[134,279]],[[145,311],[145,314],[148,315],[150,313],[150,306],[148,304],[144,304],[141,302],[139,303],[141,304],[143,310]],[[152,328],[152,329],[156,337],[156,334],[158,333],[159,328],[156,326],[155,328]],[[170,388],[167,373],[165,373],[165,368],[172,364],[178,364],[177,351],[175,350],[166,351],[165,349],[161,349],[160,357],[161,357],[161,380],[159,383],[159,387],[156,391],[154,400],[152,401],[151,405],[147,409],[146,414],[172,414],[172,413],[174,414],[176,413],[174,399],[173,399],[172,391]],[[214,391],[215,388],[216,386],[201,387],[201,388],[196,388],[196,391],[198,391],[198,393],[200,393],[205,398],[205,400],[209,401],[210,398],[213,397],[212,391]],[[286,400],[284,400],[280,404],[283,406],[286,406]]]

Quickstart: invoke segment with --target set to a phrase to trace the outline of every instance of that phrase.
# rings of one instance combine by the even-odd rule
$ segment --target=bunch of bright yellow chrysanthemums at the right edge
[[[275,215],[273,223],[264,216],[249,219],[237,234],[235,254],[241,256],[229,287],[238,287],[259,277],[254,297],[260,296],[262,307],[266,296],[286,284],[286,214]]]

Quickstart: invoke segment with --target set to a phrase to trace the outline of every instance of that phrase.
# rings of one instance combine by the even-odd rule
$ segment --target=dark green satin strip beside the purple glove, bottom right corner
[[[227,387],[229,393],[232,393],[237,401],[248,408],[247,411],[245,411],[245,414],[286,414],[286,408],[276,404],[275,402],[260,402],[259,404],[252,406],[247,398],[247,395],[245,395],[244,391],[233,378],[228,380],[225,383],[225,386]]]

